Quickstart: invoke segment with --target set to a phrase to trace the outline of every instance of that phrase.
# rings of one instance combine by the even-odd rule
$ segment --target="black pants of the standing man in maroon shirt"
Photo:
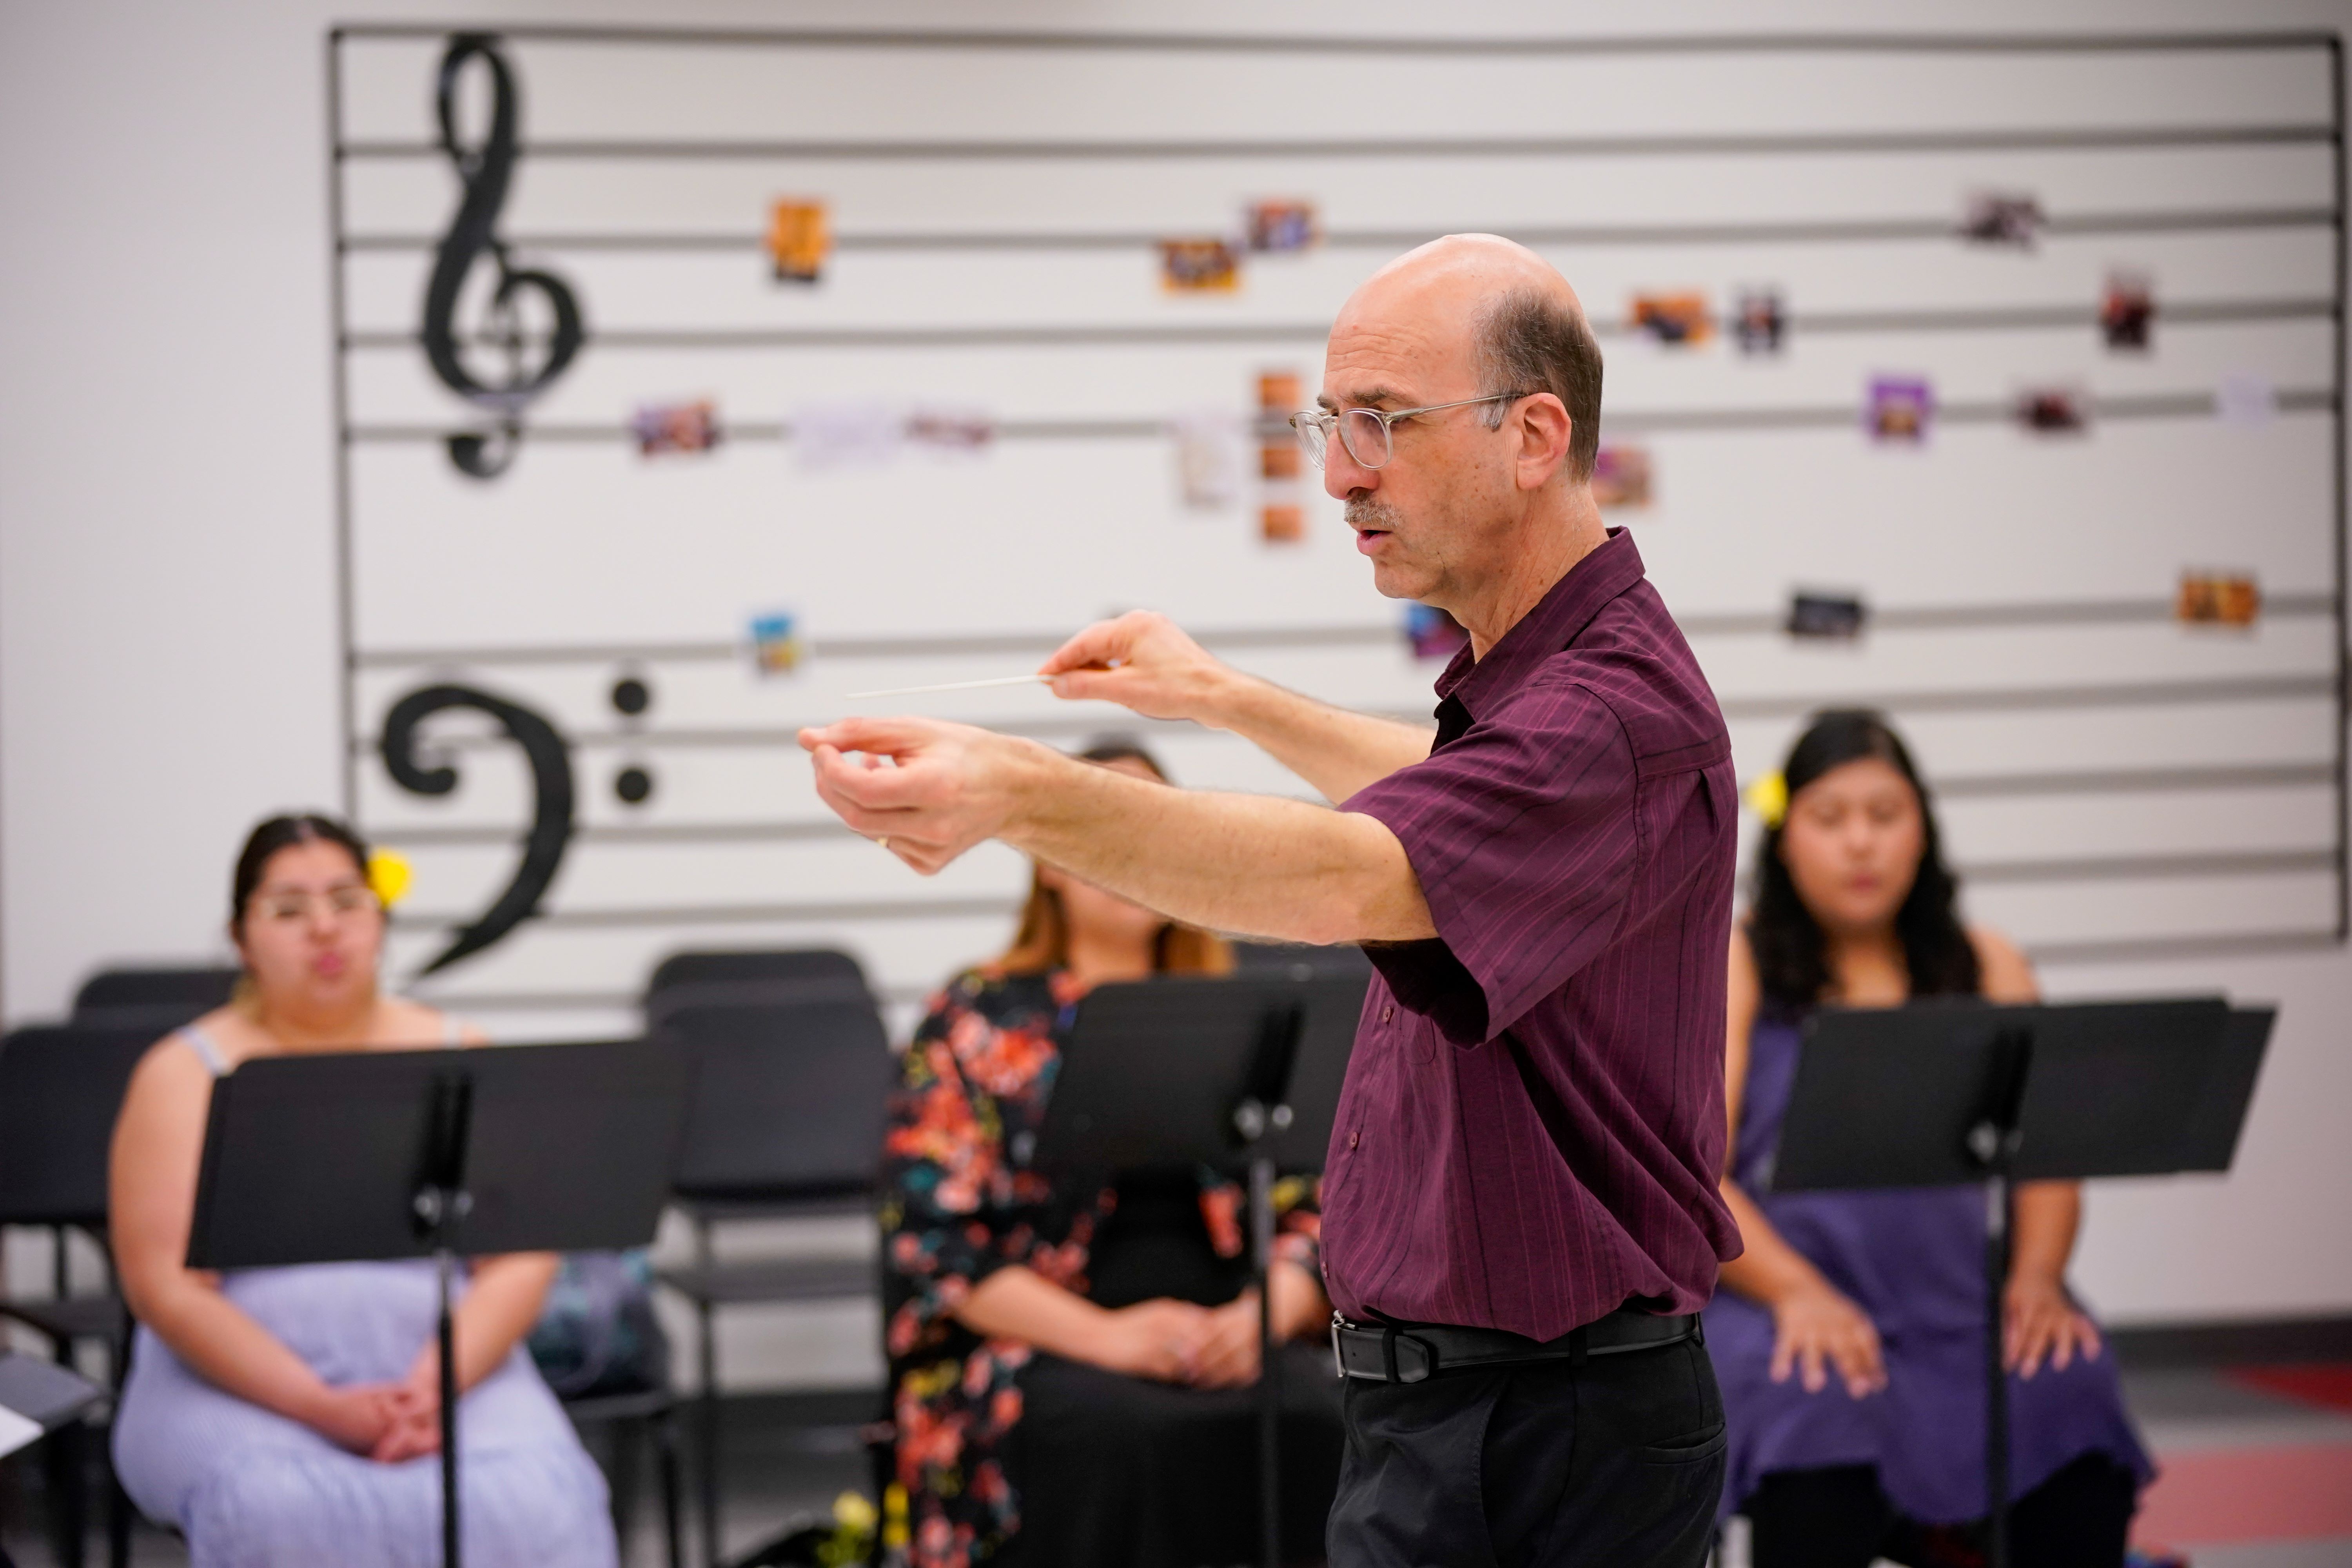
[[[1700,1345],[1348,1380],[1331,1568],[1700,1568],[1724,1403]]]

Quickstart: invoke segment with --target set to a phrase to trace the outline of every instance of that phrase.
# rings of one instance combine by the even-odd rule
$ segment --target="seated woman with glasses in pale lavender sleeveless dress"
[[[238,1001],[155,1044],[115,1124],[111,1229],[139,1316],[115,1415],[132,1500],[195,1568],[440,1561],[440,1359],[430,1262],[186,1267],[212,1081],[256,1056],[463,1046],[376,992],[383,905],[341,823],[261,823],[238,858]],[[482,1258],[456,1307],[459,1488],[470,1568],[609,1568],[604,1479],[522,1335],[553,1255]]]

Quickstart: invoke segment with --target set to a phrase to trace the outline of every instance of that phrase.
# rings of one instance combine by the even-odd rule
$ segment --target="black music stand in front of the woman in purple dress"
[[[2225,1171],[2274,1011],[2220,999],[1823,1009],[1766,1187],[1985,1187],[1985,1559],[2009,1561],[2002,1291],[2020,1180]]]

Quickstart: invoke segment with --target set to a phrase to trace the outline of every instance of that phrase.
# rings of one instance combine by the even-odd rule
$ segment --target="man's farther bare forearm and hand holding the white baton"
[[[1131,611],[1096,621],[1040,668],[1054,696],[1120,703],[1148,719],[1230,729],[1343,802],[1430,755],[1432,729],[1376,719],[1242,675],[1185,637],[1174,621]]]

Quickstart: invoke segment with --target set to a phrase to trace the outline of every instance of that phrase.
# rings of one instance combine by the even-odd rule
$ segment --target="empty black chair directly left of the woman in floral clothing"
[[[654,971],[647,1032],[694,1060],[675,1201],[694,1265],[663,1269],[696,1314],[703,1554],[717,1563],[715,1316],[748,1302],[870,1300],[866,1258],[720,1262],[713,1229],[743,1218],[868,1213],[891,1081],[889,1039],[842,952],[680,954]]]

